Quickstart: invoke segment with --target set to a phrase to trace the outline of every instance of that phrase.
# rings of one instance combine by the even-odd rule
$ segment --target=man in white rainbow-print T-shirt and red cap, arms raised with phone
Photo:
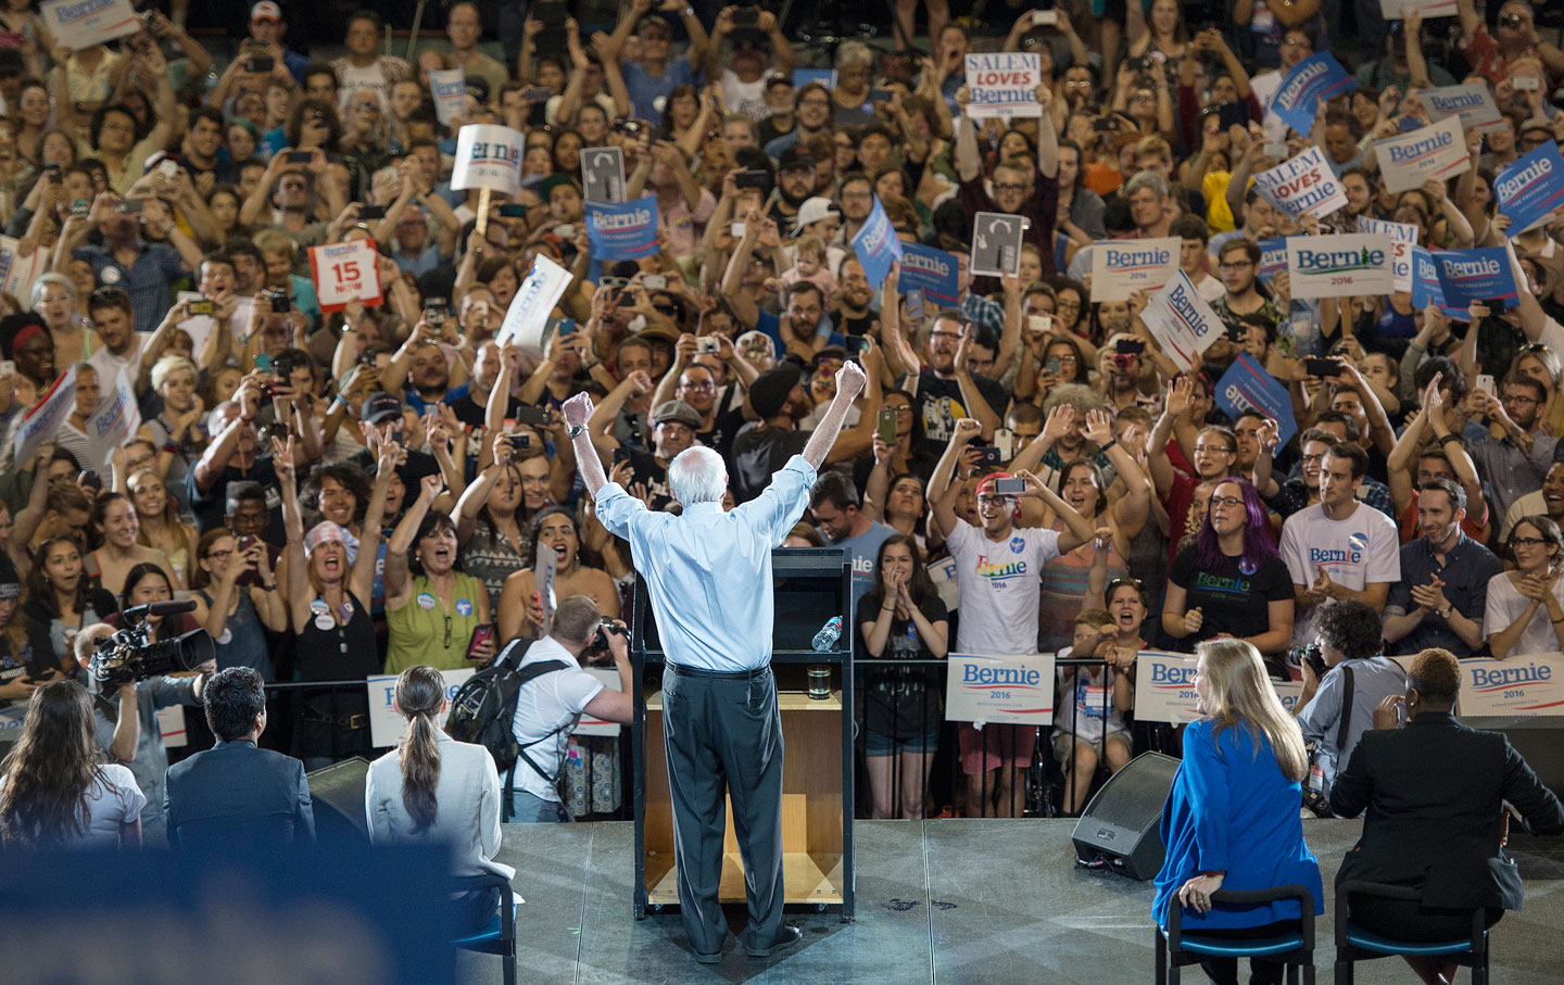
[[[960,588],[960,622],[956,652],[1021,655],[1037,652],[1038,572],[1043,564],[1092,539],[1092,522],[1071,510],[1031,472],[995,472],[978,483],[974,527],[956,516],[959,483],[951,482],[967,444],[982,433],[971,417],[956,422],[951,442],[929,480],[934,522],[956,560]],[[1007,480],[1004,486],[999,480]],[[1009,491],[1020,482],[1021,491]],[[1070,527],[1064,533],[1040,527],[1015,527],[1020,497],[1037,496],[1053,507]],[[960,727],[962,769],[967,772],[970,810],[981,816],[1021,816],[1026,785],[1017,782],[1037,744],[1035,725],[987,725],[981,733],[970,724]],[[990,780],[988,774],[998,769]],[[998,794],[998,807],[995,807]]]

